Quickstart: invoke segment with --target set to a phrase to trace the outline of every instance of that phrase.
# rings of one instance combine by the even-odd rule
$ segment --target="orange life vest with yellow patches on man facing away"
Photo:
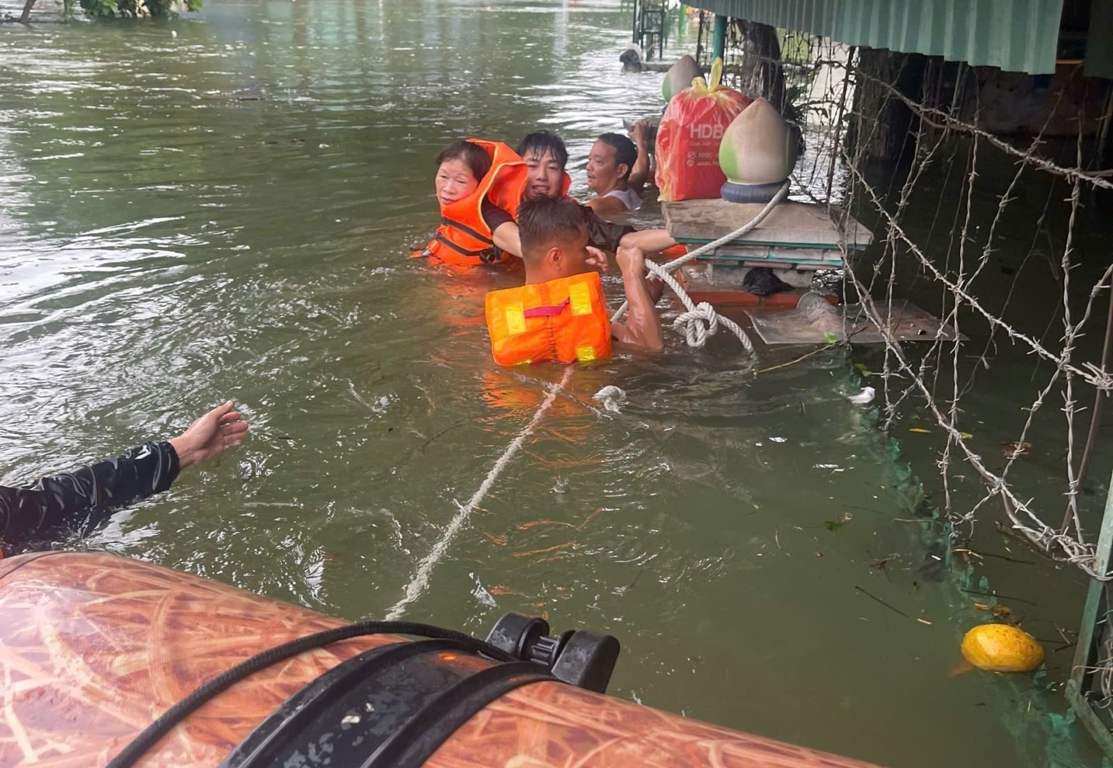
[[[611,322],[598,272],[492,291],[486,295],[486,321],[499,365],[611,355]]]

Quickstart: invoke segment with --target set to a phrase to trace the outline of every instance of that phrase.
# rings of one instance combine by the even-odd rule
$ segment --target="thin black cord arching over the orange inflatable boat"
[[[506,651],[482,640],[476,640],[470,634],[408,621],[363,621],[307,634],[304,638],[290,640],[289,642],[257,653],[195,689],[189,696],[170,707],[157,720],[147,726],[131,744],[112,758],[106,768],[131,768],[148,749],[155,746],[159,739],[170,732],[175,726],[193,713],[198,707],[255,672],[304,651],[367,634],[410,634],[413,637],[453,640],[460,643],[462,649],[482,653],[496,661],[510,661],[514,658]]]

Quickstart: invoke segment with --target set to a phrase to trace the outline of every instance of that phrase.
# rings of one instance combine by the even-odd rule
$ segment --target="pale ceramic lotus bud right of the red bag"
[[[732,184],[776,184],[796,165],[797,128],[765,99],[738,114],[722,135],[719,167]]]

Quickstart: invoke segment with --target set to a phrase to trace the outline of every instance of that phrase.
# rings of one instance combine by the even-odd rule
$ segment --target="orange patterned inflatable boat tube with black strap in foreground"
[[[2,560],[0,766],[865,766],[604,696],[607,636],[376,627],[108,554]]]

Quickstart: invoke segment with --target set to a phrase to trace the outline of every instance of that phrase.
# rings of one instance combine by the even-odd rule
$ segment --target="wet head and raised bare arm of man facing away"
[[[518,226],[526,285],[581,275],[594,268],[605,270],[607,257],[588,244],[583,218],[581,206],[567,197],[534,197],[522,204]],[[619,246],[617,259],[630,311],[626,323],[610,324],[611,336],[631,346],[660,352],[664,341],[661,319],[647,285],[646,254],[641,248]]]

